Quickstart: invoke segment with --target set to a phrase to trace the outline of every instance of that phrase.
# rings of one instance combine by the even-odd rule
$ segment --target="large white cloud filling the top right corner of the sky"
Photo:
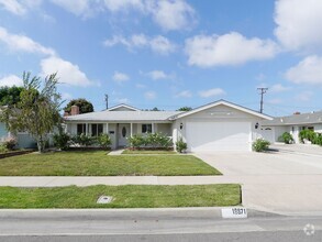
[[[304,51],[321,48],[321,0],[278,0],[275,22],[275,35],[285,47]]]

